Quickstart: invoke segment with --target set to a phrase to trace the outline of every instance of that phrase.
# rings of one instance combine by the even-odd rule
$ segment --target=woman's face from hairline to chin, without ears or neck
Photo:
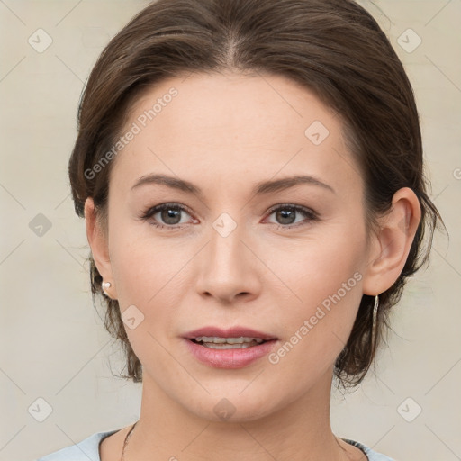
[[[277,76],[172,78],[133,106],[103,275],[145,387],[210,420],[330,395],[369,263],[363,182],[341,130]],[[187,336],[273,340],[221,348]]]

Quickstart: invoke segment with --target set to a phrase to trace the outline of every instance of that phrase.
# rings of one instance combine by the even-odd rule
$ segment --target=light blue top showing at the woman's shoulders
[[[101,461],[99,457],[99,444],[103,438],[109,437],[119,430],[121,429],[97,432],[76,445],[62,448],[36,461]],[[376,453],[371,448],[354,440],[349,440],[348,438],[343,438],[343,440],[354,447],[360,448],[368,457],[368,461],[394,461],[392,458]]]

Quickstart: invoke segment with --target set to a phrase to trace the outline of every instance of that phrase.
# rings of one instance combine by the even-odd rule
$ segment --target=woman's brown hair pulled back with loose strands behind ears
[[[393,194],[410,187],[421,220],[397,281],[380,294],[375,341],[374,297],[363,295],[346,347],[335,364],[342,384],[359,384],[389,327],[391,307],[406,279],[429,259],[434,229],[443,221],[427,194],[419,116],[401,61],[375,19],[351,0],[158,0],[135,15],[109,42],[87,81],[78,110],[78,135],[69,161],[75,209],[87,197],[106,221],[111,165],[104,155],[121,135],[143,91],[168,77],[225,70],[285,76],[339,113],[345,138],[365,181],[367,229],[390,209]],[[99,163],[98,163],[99,162]],[[97,174],[95,172],[97,171]],[[88,173],[90,172],[90,173]],[[429,229],[427,246],[423,244]],[[102,278],[91,254],[93,298]],[[122,341],[127,375],[141,365],[123,328],[116,300],[104,297],[104,324]]]

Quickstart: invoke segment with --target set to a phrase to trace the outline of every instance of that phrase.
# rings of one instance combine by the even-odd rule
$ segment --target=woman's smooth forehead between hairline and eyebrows
[[[164,80],[131,106],[128,131],[135,135],[113,166],[125,181],[164,172],[191,181],[200,173],[214,184],[232,176],[235,184],[304,172],[340,183],[345,168],[354,173],[336,112],[282,76]]]

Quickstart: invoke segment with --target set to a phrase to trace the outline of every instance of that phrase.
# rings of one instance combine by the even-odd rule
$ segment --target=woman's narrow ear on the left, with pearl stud
[[[95,203],[91,197],[88,197],[85,201],[85,221],[86,238],[95,259],[95,266],[103,277],[104,282],[110,282],[112,285],[110,288],[106,288],[105,291],[112,299],[117,299],[111,259],[109,257],[108,239],[96,217]]]

